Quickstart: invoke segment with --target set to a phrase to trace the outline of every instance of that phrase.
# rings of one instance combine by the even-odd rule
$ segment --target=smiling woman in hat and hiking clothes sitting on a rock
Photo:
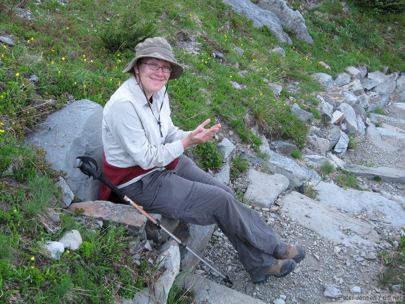
[[[238,252],[255,283],[284,277],[305,256],[301,246],[286,244],[232,190],[183,155],[220,129],[206,120],[194,131],[182,131],[170,117],[167,87],[183,67],[161,37],[146,39],[123,72],[131,77],[103,111],[103,173],[147,212],[197,225],[217,224]],[[110,191],[100,186],[100,200]]]

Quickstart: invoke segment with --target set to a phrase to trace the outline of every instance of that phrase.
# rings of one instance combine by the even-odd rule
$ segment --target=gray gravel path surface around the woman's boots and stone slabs
[[[393,105],[387,105],[385,111],[392,117],[405,119],[405,111],[398,110]],[[380,123],[394,126],[389,117],[379,116],[378,119]],[[405,126],[402,124],[395,123],[395,127],[405,130]],[[387,153],[376,148],[367,136],[362,136],[358,140],[357,148],[346,153],[344,158],[346,163],[405,169],[405,139],[387,139],[401,147],[397,153]],[[361,178],[358,178],[358,181],[362,188],[380,192],[388,198],[393,195],[405,198],[403,185]],[[207,247],[206,257],[219,271],[231,277],[233,289],[266,303],[331,302],[331,298],[324,296],[324,290],[330,284],[337,287],[345,295],[352,294],[351,289],[353,287],[359,287],[362,294],[392,293],[379,282],[380,271],[382,270],[380,259],[376,256],[379,249],[370,254],[368,248],[361,244],[353,248],[333,243],[291,221],[283,214],[282,207],[275,212],[258,208],[256,211],[271,225],[281,240],[304,246],[307,250],[307,256],[301,263],[297,264],[294,272],[288,276],[284,278],[270,277],[265,283],[254,284],[239,262],[232,245],[222,232],[217,230]],[[362,214],[356,214],[355,217],[370,222],[370,219]],[[375,229],[381,235],[381,240],[391,239],[394,242],[399,240],[400,235],[397,231],[390,230],[385,226],[376,226]],[[389,247],[389,244],[384,241],[380,244],[381,247]],[[216,277],[201,263],[197,265],[195,272],[207,276],[217,283],[224,284],[220,277]],[[383,302],[381,301],[381,303]]]

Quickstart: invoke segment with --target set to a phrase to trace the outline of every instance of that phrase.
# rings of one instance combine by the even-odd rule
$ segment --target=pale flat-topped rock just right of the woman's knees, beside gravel
[[[245,199],[257,207],[270,208],[278,195],[288,188],[290,181],[281,174],[267,174],[250,169],[248,171],[250,182],[245,193]]]

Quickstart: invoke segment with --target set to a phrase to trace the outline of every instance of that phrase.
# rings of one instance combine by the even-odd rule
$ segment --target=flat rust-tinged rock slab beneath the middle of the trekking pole
[[[85,216],[128,225],[128,230],[131,233],[145,233],[146,216],[130,205],[114,204],[107,201],[89,201],[74,203],[67,208],[70,212],[74,212],[76,209],[83,209],[80,214]]]

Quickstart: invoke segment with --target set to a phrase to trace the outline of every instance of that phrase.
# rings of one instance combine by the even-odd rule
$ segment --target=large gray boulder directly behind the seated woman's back
[[[101,167],[102,115],[103,107],[98,103],[87,99],[74,101],[53,112],[25,142],[44,148],[46,161],[53,169],[67,173],[67,184],[82,201],[98,199],[99,181],[83,174],[73,164],[77,156],[86,155]]]

